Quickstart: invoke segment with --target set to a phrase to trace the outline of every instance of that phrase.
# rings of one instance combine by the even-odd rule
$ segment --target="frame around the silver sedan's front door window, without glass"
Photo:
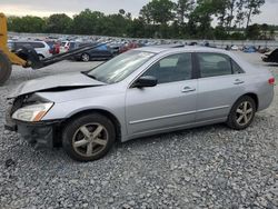
[[[188,79],[188,80],[193,80],[193,79],[197,79],[196,77],[196,63],[195,63],[195,59],[193,59],[193,51],[179,51],[179,52],[172,52],[172,53],[168,53],[168,54],[165,54],[156,60],[153,60],[143,71],[141,71],[128,86],[128,89],[132,89],[132,88],[136,88],[133,87],[135,82],[137,82],[137,80],[147,71],[149,70],[152,66],[155,66],[157,62],[159,62],[160,60],[167,58],[167,57],[170,57],[170,56],[176,56],[176,54],[180,54],[180,53],[190,53],[191,54],[191,64],[192,64],[192,69],[191,69],[191,78]],[[172,81],[172,82],[181,82],[181,81],[187,81],[187,80],[180,80],[180,81]],[[159,84],[169,84],[171,82],[165,82],[165,83],[158,83],[157,86]]]

